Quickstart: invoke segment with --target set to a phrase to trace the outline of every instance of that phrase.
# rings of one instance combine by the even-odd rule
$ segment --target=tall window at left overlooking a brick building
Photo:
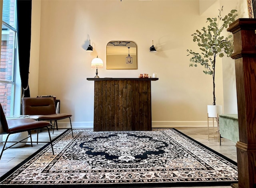
[[[6,116],[12,116],[14,113],[16,113],[16,115],[20,114],[20,108],[18,108],[18,114],[14,110],[16,103],[16,91],[20,91],[20,84],[18,83],[20,78],[19,75],[16,74],[18,65],[16,61],[16,25],[16,0],[3,0],[0,60],[0,102]],[[20,106],[20,104],[18,104],[18,106]]]

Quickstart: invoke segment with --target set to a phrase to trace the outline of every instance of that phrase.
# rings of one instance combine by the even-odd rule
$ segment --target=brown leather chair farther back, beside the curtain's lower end
[[[53,97],[27,97],[22,98],[22,112],[23,115],[30,115],[30,118],[40,120],[40,121],[54,121],[54,126],[56,124],[56,129],[58,130],[57,121],[60,119],[69,118],[70,127],[73,135],[71,114],[60,113],[56,114],[56,108]],[[54,133],[54,127],[53,127]]]

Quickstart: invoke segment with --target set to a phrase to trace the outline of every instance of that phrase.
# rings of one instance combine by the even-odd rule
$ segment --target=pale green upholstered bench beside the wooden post
[[[239,141],[238,114],[222,114],[219,117],[220,136],[231,141]]]

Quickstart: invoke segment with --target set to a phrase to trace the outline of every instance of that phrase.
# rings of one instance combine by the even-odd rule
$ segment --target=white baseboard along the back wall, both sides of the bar
[[[212,120],[209,119],[209,126],[212,126]],[[217,122],[214,121],[214,126]],[[59,128],[70,128],[70,122],[58,122]],[[93,121],[72,122],[73,129],[93,129]],[[207,127],[207,121],[152,121],[153,128],[170,127]]]

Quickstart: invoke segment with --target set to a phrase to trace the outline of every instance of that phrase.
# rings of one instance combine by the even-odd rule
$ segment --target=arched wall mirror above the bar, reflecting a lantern
[[[106,69],[137,69],[137,45],[132,41],[107,44]]]

